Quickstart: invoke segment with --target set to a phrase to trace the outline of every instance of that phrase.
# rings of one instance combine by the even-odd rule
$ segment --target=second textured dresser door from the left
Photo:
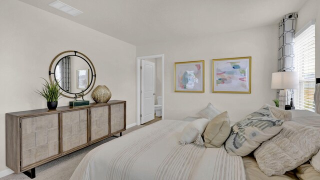
[[[88,144],[88,109],[62,112],[62,152]]]

